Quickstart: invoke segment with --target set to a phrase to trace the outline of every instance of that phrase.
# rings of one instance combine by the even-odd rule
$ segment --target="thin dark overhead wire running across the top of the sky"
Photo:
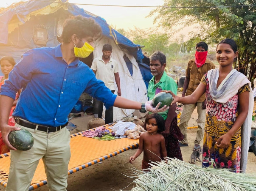
[[[50,3],[67,3],[67,2],[54,2],[47,0],[34,0]],[[68,2],[69,3],[69,2]],[[230,8],[230,7],[254,7],[256,5],[230,5],[230,6],[198,6],[198,7],[187,7],[187,6],[132,6],[132,5],[97,5],[97,4],[84,4],[84,3],[69,3],[72,5],[91,5],[91,6],[106,6],[106,7],[139,7],[139,8]]]

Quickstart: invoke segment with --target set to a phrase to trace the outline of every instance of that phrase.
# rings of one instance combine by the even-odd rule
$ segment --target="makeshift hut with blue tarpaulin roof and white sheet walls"
[[[90,67],[93,58],[102,55],[102,46],[111,44],[112,57],[118,62],[122,97],[139,102],[147,101],[147,85],[152,75],[149,65],[143,63],[144,55],[140,45],[118,33],[100,16],[68,3],[67,0],[28,0],[1,8],[0,57],[12,56],[19,62],[22,54],[29,49],[58,45],[64,21],[72,15],[93,18],[101,26],[103,34],[97,40],[93,53],[80,60]],[[120,120],[133,112],[132,109],[114,108],[114,120]]]

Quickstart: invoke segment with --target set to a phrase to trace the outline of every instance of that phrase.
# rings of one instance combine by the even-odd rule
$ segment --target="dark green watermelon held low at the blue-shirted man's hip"
[[[34,145],[34,137],[25,129],[11,131],[8,140],[17,150],[29,150]]]

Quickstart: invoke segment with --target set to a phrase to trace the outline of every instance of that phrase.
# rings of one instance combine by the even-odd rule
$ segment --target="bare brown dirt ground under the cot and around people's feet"
[[[87,117],[89,120],[90,117]],[[191,116],[191,120],[188,126],[197,126],[197,112],[196,109]],[[76,122],[76,123],[75,123]],[[83,131],[79,126],[79,120],[73,119],[73,123],[78,127],[71,133]],[[83,122],[83,126],[87,121]],[[82,126],[82,125],[81,125]],[[183,160],[189,161],[190,155],[194,147],[194,139],[196,137],[197,128],[188,129],[188,147],[181,147]],[[85,149],[86,150],[86,149]],[[141,156],[136,158],[133,164],[129,164],[129,157],[133,156],[137,149],[127,150],[124,153],[120,153],[117,156],[108,158],[102,161],[101,164],[94,164],[88,168],[82,169],[76,173],[69,175],[68,177],[68,191],[129,191],[135,186],[132,183],[134,179],[127,177],[129,176],[129,168],[141,169]],[[197,163],[196,165],[201,165]],[[256,172],[256,156],[249,152],[248,153],[248,173]],[[48,191],[47,185],[36,189],[37,191]],[[0,191],[4,191],[4,188],[0,186]]]

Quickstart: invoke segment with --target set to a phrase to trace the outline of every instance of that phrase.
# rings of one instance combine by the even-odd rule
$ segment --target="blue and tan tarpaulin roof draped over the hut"
[[[96,16],[77,5],[70,4],[66,0],[48,0],[19,2],[0,10],[0,57],[10,55],[18,62],[20,56],[28,49],[47,46],[53,47],[59,44],[57,38],[58,19],[68,15],[82,15],[93,18],[100,26],[102,34],[113,39],[121,49],[127,49],[138,62],[143,80],[148,86],[152,75],[149,66],[141,63],[143,59],[140,45],[134,44],[118,31],[114,30],[100,16]],[[59,24],[59,23],[58,23]],[[33,41],[35,30],[43,27],[47,30],[48,40],[46,45],[38,45]],[[127,58],[128,59],[128,58]],[[125,59],[124,59],[125,60]],[[128,60],[127,68],[132,76],[132,63]],[[1,72],[0,72],[1,73]]]

